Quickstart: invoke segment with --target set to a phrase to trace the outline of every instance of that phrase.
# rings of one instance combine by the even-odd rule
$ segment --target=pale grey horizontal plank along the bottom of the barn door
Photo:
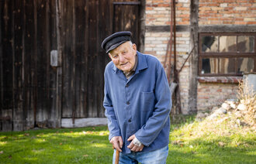
[[[81,128],[89,126],[107,125],[107,118],[75,118],[74,124],[72,118],[62,118],[61,128]]]

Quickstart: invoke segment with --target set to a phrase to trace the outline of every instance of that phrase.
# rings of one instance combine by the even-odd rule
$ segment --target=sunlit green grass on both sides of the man
[[[254,129],[182,118],[167,163],[256,163]],[[112,163],[106,126],[0,132],[0,163]]]

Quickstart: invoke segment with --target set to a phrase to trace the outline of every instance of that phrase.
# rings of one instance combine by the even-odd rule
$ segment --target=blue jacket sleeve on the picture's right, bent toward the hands
[[[135,133],[137,139],[146,146],[149,146],[157,138],[164,125],[169,121],[168,118],[171,111],[171,91],[164,68],[161,66],[157,70],[154,95],[153,114],[148,118],[146,124]]]

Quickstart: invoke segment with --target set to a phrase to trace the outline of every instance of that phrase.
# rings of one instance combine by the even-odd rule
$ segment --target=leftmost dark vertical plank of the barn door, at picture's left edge
[[[13,111],[13,33],[12,33],[12,2],[2,1],[1,6],[1,31],[2,31],[2,117],[11,118],[9,121],[2,121],[2,131],[12,131],[12,111]]]

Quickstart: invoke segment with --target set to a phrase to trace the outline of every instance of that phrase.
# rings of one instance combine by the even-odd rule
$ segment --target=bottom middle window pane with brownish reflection
[[[235,73],[235,58],[220,58],[220,73]]]

